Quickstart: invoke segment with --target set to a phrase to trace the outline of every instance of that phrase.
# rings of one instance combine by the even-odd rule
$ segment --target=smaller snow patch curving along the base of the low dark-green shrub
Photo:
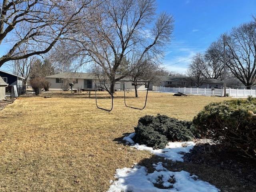
[[[195,145],[194,142],[169,142],[166,148],[164,149],[153,149],[146,145],[134,144],[132,138],[134,138],[135,133],[131,133],[129,136],[123,138],[126,141],[126,144],[132,144],[132,147],[138,150],[147,150],[157,156],[164,157],[172,161],[181,161],[183,162],[183,155],[180,153],[188,153]]]

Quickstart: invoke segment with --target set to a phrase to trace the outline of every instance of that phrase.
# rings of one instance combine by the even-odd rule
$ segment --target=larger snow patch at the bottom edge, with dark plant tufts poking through
[[[117,169],[117,180],[108,192],[219,192],[215,186],[199,180],[195,175],[190,176],[186,171],[169,171],[162,162],[153,166],[156,169],[153,173],[148,173],[144,166]]]

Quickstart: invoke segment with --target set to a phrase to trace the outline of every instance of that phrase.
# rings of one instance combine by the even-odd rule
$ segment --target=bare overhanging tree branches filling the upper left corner
[[[0,44],[11,45],[0,57],[10,60],[45,54],[82,17],[92,18],[96,0],[3,0],[0,5]]]

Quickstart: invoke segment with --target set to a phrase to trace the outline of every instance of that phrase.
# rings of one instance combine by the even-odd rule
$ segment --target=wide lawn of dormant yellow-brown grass
[[[143,106],[128,94],[127,103]],[[124,146],[118,138],[134,131],[145,114],[166,114],[191,120],[209,102],[220,97],[150,92],[144,110],[124,106],[116,94],[114,109],[96,108],[88,95],[53,94],[21,97],[0,111],[0,191],[104,192],[116,168],[131,167],[152,154]],[[100,106],[110,107],[106,93]]]

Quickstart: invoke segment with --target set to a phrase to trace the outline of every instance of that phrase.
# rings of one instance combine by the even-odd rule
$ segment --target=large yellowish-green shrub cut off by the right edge
[[[211,103],[194,117],[204,137],[234,146],[256,158],[256,98]]]

